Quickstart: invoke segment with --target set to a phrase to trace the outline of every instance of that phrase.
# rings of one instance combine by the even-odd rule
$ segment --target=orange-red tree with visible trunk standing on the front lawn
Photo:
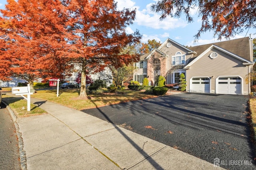
[[[70,16],[70,32],[75,35],[72,42],[72,58],[81,68],[81,90],[79,97],[86,95],[86,74],[101,71],[104,67],[138,61],[138,55],[120,54],[126,45],[138,43],[140,34],[126,34],[126,26],[135,19],[135,11],[118,11],[114,0],[70,0],[66,1]]]

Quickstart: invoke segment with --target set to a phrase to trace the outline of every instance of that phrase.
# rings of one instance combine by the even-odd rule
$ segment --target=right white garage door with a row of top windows
[[[242,85],[240,77],[219,77],[218,94],[242,94]]]

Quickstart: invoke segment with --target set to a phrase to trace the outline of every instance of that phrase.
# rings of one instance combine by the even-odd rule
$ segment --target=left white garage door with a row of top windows
[[[192,78],[191,92],[210,93],[210,79],[209,78]]]

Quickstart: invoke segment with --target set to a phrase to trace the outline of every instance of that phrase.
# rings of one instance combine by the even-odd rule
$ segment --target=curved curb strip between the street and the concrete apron
[[[14,123],[14,126],[16,128],[16,134],[18,136],[18,143],[19,143],[19,152],[20,152],[20,166],[22,170],[27,170],[27,160],[26,160],[26,152],[23,150],[24,143],[23,143],[23,138],[22,138],[22,133],[20,132],[19,125],[17,123],[17,117],[15,113],[12,111],[10,106],[2,101],[4,105],[6,105],[6,109],[8,110],[10,116],[12,117],[12,121]]]

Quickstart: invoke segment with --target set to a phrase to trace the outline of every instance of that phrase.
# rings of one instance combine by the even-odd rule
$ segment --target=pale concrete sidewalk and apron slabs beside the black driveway
[[[28,170],[222,169],[81,111],[31,102],[48,114],[16,119]]]

